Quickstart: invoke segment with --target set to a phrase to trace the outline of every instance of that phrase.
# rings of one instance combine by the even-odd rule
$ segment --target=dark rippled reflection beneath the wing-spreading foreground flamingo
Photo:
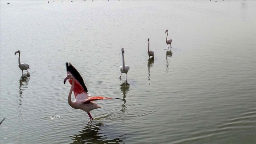
[[[105,133],[104,129],[108,132]],[[124,144],[124,136],[118,133],[117,138],[113,138],[113,135],[116,135],[113,133],[115,132],[111,132],[102,122],[90,121],[77,134],[70,136],[73,141],[71,144]]]

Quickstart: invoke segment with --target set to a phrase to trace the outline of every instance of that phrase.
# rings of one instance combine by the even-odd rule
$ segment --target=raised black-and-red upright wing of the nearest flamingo
[[[75,98],[78,94],[87,94],[88,90],[87,87],[85,86],[84,80],[82,76],[79,74],[79,72],[75,69],[75,67],[70,64],[66,63],[66,68],[67,68],[67,74],[71,74],[74,77],[75,80],[75,86],[74,86],[74,94]],[[72,84],[72,80],[69,79],[70,85]]]

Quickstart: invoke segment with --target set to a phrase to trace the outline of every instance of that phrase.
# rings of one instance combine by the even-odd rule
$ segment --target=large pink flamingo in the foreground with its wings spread
[[[64,84],[66,83],[67,80],[69,80],[69,83],[71,84],[71,88],[68,96],[69,106],[75,109],[84,110],[85,112],[87,112],[90,119],[93,120],[90,111],[102,107],[94,103],[94,101],[113,99],[113,98],[104,97],[104,96],[89,96],[87,93],[88,90],[87,90],[87,87],[85,86],[84,80],[79,74],[79,72],[75,69],[75,67],[70,63],[66,63],[66,68],[67,68],[68,75],[64,79]],[[71,100],[72,91],[74,91],[75,101]]]

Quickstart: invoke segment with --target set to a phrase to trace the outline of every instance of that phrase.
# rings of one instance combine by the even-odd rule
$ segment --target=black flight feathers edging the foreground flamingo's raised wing
[[[80,85],[83,86],[84,90],[86,92],[88,92],[87,87],[85,86],[85,82],[84,82],[82,76],[75,69],[75,67],[72,64],[68,63],[68,62],[66,63],[66,67],[67,67],[67,71],[69,71],[74,76],[74,78],[80,83]]]

